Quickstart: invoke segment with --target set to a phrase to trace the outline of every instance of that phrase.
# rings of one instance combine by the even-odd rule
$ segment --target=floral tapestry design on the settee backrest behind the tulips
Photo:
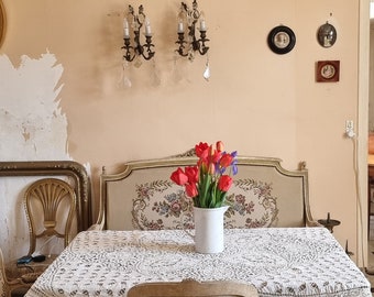
[[[133,226],[141,230],[193,229],[191,200],[168,180],[136,185]],[[272,186],[253,179],[237,179],[227,197],[226,228],[272,227],[277,219],[277,199]],[[189,218],[189,219],[188,219]]]

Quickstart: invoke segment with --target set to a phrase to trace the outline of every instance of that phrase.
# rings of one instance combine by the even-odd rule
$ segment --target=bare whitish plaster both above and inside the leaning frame
[[[22,56],[14,67],[0,55],[0,160],[70,160],[67,119],[58,95],[63,66],[53,54]],[[0,177],[0,243],[6,258],[28,252],[29,231],[22,196],[34,177]],[[16,235],[14,235],[16,234]]]

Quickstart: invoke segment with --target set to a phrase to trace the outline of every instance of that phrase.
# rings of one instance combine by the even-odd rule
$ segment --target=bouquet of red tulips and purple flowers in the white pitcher
[[[232,185],[232,175],[238,173],[237,152],[223,151],[221,141],[213,145],[200,142],[195,145],[199,158],[197,165],[177,168],[170,179],[184,186],[187,197],[199,208],[218,208],[224,206],[226,196]]]

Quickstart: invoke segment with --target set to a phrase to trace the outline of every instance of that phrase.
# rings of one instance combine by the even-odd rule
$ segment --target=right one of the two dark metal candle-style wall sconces
[[[199,23],[200,37],[196,37],[197,22]],[[187,24],[187,37],[185,38],[185,25]],[[207,28],[204,12],[198,10],[197,1],[194,0],[193,9],[189,9],[186,3],[182,2],[180,11],[178,14],[178,40],[175,42],[179,45],[176,52],[180,56],[188,56],[190,61],[195,57],[195,52],[200,55],[205,55],[209,47],[206,46],[207,38]]]

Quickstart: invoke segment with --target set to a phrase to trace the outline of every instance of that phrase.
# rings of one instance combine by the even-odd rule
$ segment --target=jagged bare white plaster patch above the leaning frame
[[[63,66],[54,55],[21,57],[14,68],[0,56],[0,158],[66,160],[67,120],[57,98]]]

